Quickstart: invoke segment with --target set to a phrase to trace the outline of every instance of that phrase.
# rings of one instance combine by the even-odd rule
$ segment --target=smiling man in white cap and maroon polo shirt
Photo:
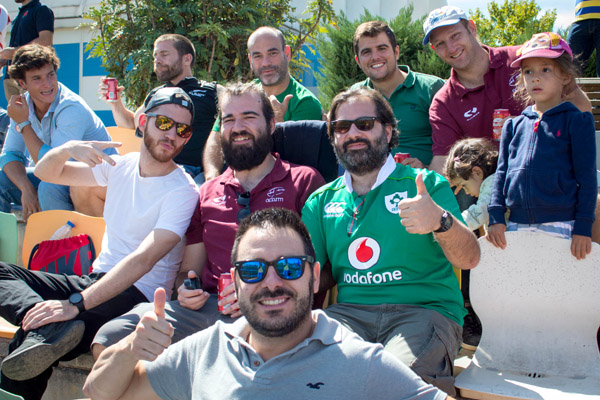
[[[464,137],[492,139],[495,109],[519,115],[525,108],[513,99],[517,76],[510,66],[519,46],[489,47],[477,40],[477,27],[459,8],[433,10],[423,23],[425,38],[444,62],[452,67],[450,79],[437,92],[429,110],[433,159],[430,169],[442,172],[450,147]],[[575,84],[563,99],[582,111],[591,104]]]

